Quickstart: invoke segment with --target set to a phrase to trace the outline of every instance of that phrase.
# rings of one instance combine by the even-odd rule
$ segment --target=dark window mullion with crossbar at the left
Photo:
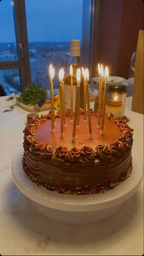
[[[0,62],[0,70],[19,69],[21,89],[23,90],[31,82],[24,0],[13,0],[13,18],[18,60]]]

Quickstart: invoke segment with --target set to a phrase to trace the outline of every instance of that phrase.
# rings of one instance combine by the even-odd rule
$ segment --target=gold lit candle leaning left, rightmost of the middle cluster
[[[90,98],[89,98],[89,91],[88,91],[88,80],[89,80],[89,72],[88,69],[85,68],[84,71],[84,79],[85,79],[85,89],[87,92],[87,115],[88,115],[88,129],[89,129],[89,138],[92,139],[92,122],[91,122],[91,116],[90,116]]]

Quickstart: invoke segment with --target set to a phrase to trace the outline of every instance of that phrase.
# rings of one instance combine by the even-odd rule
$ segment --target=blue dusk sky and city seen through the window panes
[[[48,65],[68,71],[70,40],[82,41],[83,0],[25,0],[31,81],[48,88]],[[0,1],[0,61],[18,60],[12,0]],[[55,79],[56,87],[59,79]],[[21,92],[20,72],[1,70],[7,93]]]

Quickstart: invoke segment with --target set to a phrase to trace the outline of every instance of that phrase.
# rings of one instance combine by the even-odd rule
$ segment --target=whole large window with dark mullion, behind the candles
[[[0,83],[7,94],[20,93],[29,82],[49,89],[51,63],[56,70],[54,86],[58,88],[59,69],[68,72],[70,40],[81,41],[81,59],[88,66],[92,2],[0,1]]]

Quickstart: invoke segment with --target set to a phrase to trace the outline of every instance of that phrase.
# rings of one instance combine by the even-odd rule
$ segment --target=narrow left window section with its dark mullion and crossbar
[[[31,81],[24,0],[0,1],[0,84],[9,95]]]

